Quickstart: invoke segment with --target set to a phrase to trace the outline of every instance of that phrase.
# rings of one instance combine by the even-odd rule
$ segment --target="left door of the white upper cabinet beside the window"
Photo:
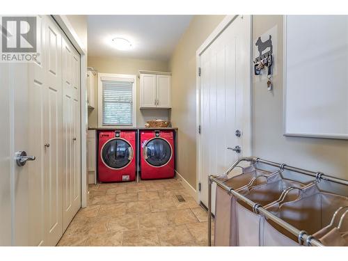
[[[156,74],[140,75],[140,107],[156,107]]]

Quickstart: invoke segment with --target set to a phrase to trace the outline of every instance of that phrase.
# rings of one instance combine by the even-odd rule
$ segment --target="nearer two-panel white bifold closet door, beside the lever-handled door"
[[[61,30],[40,17],[41,53],[29,65],[29,244],[52,246],[62,221],[62,63]]]

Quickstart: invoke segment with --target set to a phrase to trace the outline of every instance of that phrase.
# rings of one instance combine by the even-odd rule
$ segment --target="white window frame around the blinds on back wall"
[[[103,125],[103,83],[102,78],[116,79],[133,79],[132,86],[132,125]],[[98,127],[113,128],[113,127],[136,127],[136,75],[134,74],[111,74],[98,73]]]

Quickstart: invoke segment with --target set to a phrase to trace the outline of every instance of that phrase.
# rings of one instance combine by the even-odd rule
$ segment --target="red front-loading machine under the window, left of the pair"
[[[98,180],[136,179],[136,131],[115,130],[99,133]]]

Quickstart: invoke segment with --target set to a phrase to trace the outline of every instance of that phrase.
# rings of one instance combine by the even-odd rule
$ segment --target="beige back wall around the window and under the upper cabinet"
[[[120,57],[93,57],[88,56],[88,66],[95,68],[100,73],[114,74],[139,74],[139,70],[154,70],[168,72],[167,61],[141,60],[134,58]],[[139,127],[145,125],[146,120],[154,118],[168,120],[168,110],[140,110],[140,86],[139,78],[136,81],[136,122]],[[98,101],[97,84],[95,84],[95,109],[88,109],[88,127],[97,127],[98,125]]]

